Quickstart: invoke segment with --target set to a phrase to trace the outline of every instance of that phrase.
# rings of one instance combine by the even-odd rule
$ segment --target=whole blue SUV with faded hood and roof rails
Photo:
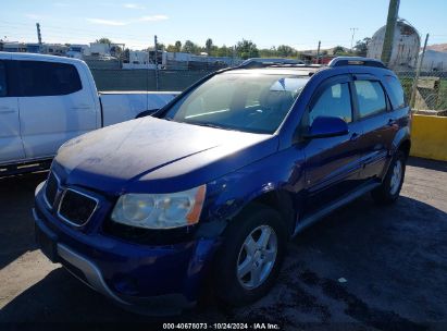
[[[220,71],[152,117],[65,143],[36,188],[37,242],[129,309],[189,307],[203,289],[244,305],[306,226],[369,192],[398,198],[410,121],[376,60]]]

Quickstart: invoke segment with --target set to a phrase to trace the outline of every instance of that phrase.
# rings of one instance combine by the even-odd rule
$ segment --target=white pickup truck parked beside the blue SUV
[[[98,95],[80,60],[0,52],[0,175],[48,167],[66,140],[135,119],[174,96]]]

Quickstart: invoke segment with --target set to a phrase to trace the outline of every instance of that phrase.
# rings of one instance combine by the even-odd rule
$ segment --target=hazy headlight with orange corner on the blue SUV
[[[199,221],[207,186],[167,194],[122,195],[112,212],[112,220],[137,228],[172,229]]]

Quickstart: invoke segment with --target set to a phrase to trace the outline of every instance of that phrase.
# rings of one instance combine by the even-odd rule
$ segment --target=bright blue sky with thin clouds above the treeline
[[[201,46],[233,46],[243,38],[258,48],[289,45],[298,50],[337,45],[350,47],[385,25],[389,0],[2,0],[0,39],[88,44],[100,37],[144,49],[159,42],[189,39]],[[446,0],[400,0],[399,17],[429,45],[447,42]]]

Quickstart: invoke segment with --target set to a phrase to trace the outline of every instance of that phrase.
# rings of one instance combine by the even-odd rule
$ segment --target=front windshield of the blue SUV
[[[236,130],[274,133],[308,82],[308,76],[224,73],[208,79],[173,105],[164,119]]]

